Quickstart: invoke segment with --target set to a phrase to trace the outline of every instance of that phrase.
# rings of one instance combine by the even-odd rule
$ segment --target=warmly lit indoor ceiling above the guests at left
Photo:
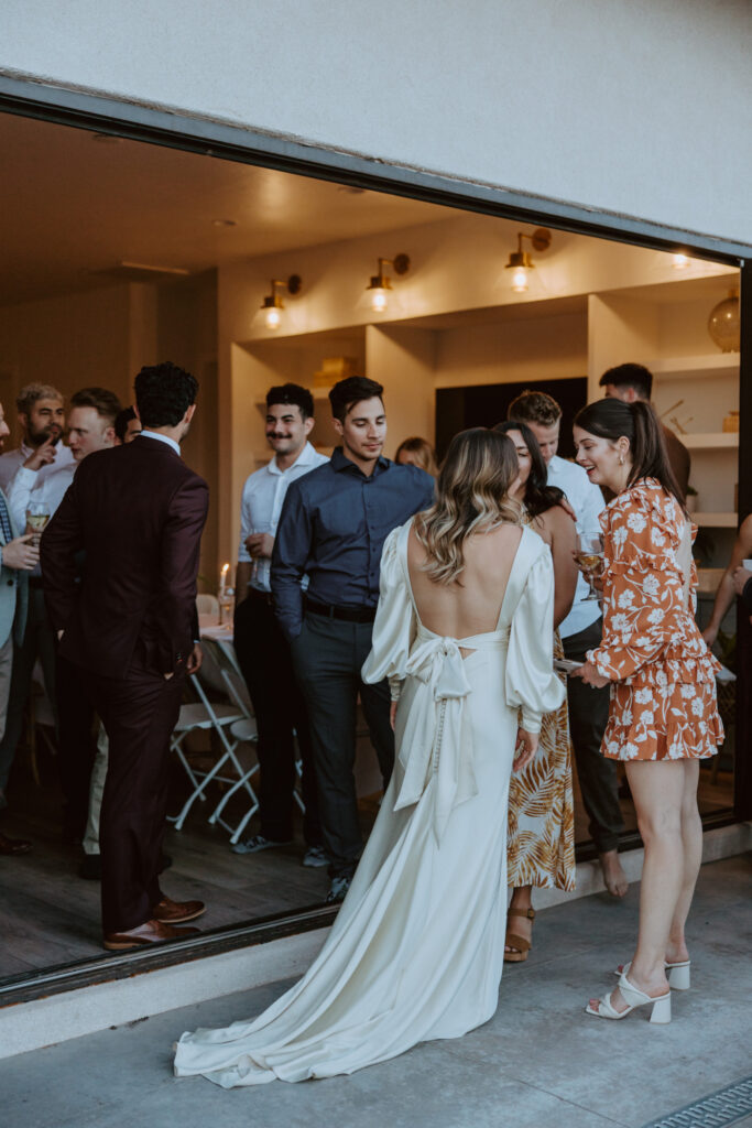
[[[10,114],[0,152],[2,306],[112,282],[96,272],[123,262],[197,273],[452,213]]]

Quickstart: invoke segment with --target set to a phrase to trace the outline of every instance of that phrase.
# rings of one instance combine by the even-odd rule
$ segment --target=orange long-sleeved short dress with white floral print
[[[695,622],[697,571],[692,562],[687,607],[676,557],[684,522],[655,478],[639,478],[601,514],[603,640],[587,656],[612,682],[608,759],[705,759],[724,740],[720,666]]]

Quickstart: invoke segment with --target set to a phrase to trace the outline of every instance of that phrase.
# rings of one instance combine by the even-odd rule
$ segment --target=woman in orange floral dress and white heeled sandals
[[[602,399],[575,418],[577,461],[617,496],[603,527],[603,641],[575,676],[611,682],[603,755],[626,763],[645,844],[637,948],[619,986],[589,1014],[653,1004],[671,1020],[666,970],[689,986],[684,923],[702,854],[699,761],[717,751],[719,669],[695,622],[692,529],[649,404]]]

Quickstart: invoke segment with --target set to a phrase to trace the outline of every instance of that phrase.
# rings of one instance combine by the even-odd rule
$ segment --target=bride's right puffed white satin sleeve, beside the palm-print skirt
[[[543,713],[552,713],[564,700],[564,686],[554,672],[554,562],[548,545],[541,544],[514,611],[505,691],[506,704],[522,710],[528,732],[540,732]]]

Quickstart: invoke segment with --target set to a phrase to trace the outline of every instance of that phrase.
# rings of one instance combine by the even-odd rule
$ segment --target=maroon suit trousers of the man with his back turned
[[[124,678],[88,676],[109,738],[101,801],[101,920],[105,933],[145,924],[161,899],[159,861],[167,816],[170,734],[185,676],[166,680],[138,652]]]

